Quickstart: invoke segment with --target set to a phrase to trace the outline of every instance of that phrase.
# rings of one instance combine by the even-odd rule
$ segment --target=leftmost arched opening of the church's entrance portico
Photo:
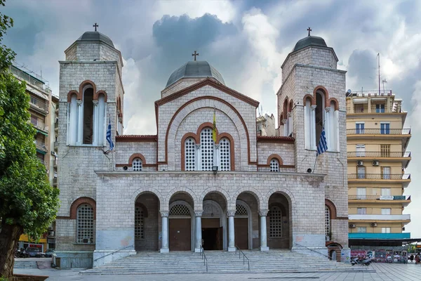
[[[159,250],[159,198],[152,192],[144,192],[135,201],[136,251]]]

